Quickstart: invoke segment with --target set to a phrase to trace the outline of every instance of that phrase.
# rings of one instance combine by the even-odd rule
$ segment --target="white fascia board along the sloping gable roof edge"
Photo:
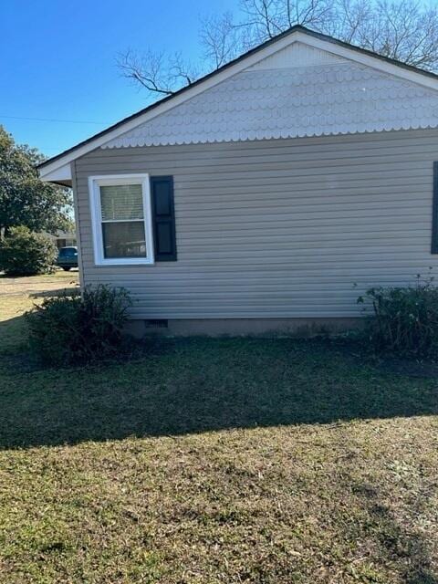
[[[339,57],[347,58],[351,61],[378,69],[390,75],[394,75],[399,78],[405,78],[424,87],[438,90],[438,79],[430,78],[426,75],[422,75],[422,73],[417,73],[416,71],[402,68],[396,64],[392,64],[391,62],[380,59],[379,57],[373,57],[372,55],[362,53],[358,50],[355,50],[354,48],[343,47],[336,42],[330,42],[325,39],[317,38],[301,31],[295,31],[289,36],[279,38],[275,43],[272,43],[268,47],[265,47],[259,51],[255,51],[254,54],[248,55],[248,57],[245,57],[244,59],[235,63],[235,65],[225,68],[222,71],[219,70],[215,72],[212,77],[205,79],[205,81],[199,83],[199,85],[184,90],[180,95],[175,95],[172,99],[168,99],[161,105],[157,105],[152,110],[145,111],[144,114],[134,117],[133,120],[126,121],[126,123],[123,123],[118,128],[105,132],[103,136],[99,136],[98,138],[89,141],[87,144],[84,144],[78,149],[66,153],[65,156],[62,156],[57,161],[54,161],[41,169],[39,171],[40,177],[43,180],[48,180],[46,178],[47,175],[51,175],[53,172],[57,171],[59,167],[68,165],[69,162],[78,159],[80,156],[87,154],[89,151],[93,151],[103,144],[118,138],[121,134],[137,128],[137,126],[140,126],[141,124],[162,115],[162,113],[165,113],[168,110],[172,110],[172,108],[181,105],[184,101],[200,95],[203,93],[203,91],[213,88],[215,85],[218,85],[225,79],[232,77],[236,73],[239,73],[246,68],[252,67],[255,65],[255,63],[258,63],[266,57],[274,55],[277,51],[289,47],[298,41],[308,44],[310,47],[316,47],[325,50],[334,55],[338,55]]]

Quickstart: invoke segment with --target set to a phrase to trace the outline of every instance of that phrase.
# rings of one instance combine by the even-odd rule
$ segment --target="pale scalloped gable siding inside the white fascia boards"
[[[438,125],[438,91],[294,42],[102,145],[125,148]]]

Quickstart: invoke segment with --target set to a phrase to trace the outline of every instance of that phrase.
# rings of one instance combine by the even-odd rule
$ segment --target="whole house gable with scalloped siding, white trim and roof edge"
[[[97,148],[245,141],[438,125],[438,77],[295,26],[43,162],[43,180]]]

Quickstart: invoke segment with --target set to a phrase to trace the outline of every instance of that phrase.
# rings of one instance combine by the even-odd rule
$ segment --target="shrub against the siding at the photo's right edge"
[[[438,289],[433,276],[414,286],[372,287],[358,303],[370,304],[367,331],[374,349],[411,357],[438,356]]]

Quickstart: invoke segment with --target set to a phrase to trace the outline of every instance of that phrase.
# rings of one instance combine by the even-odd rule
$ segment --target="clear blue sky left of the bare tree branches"
[[[2,2],[0,124],[17,142],[54,156],[148,105],[146,93],[120,77],[117,53],[151,47],[196,59],[199,16],[236,6],[237,0]]]

